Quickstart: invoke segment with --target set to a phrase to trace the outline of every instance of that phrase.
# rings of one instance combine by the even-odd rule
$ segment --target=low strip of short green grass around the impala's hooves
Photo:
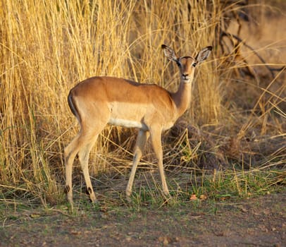
[[[255,198],[260,195],[272,193],[285,193],[285,171],[265,169],[246,170],[225,170],[225,171],[197,171],[196,173],[181,172],[168,179],[170,188],[170,198],[166,198],[161,191],[160,183],[156,176],[140,176],[137,178],[136,186],[130,200],[125,198],[124,186],[118,181],[109,181],[113,188],[105,188],[101,191],[100,186],[95,188],[98,195],[98,203],[90,203],[88,195],[85,194],[85,185],[75,186],[74,205],[71,210],[70,205],[61,194],[61,201],[55,205],[46,204],[42,208],[42,213],[46,214],[56,210],[63,215],[73,217],[85,214],[99,212],[113,212],[120,215],[130,212],[136,215],[136,212],[146,212],[147,210],[179,210],[189,207],[192,212],[207,211],[211,214],[216,213],[216,203],[231,203],[246,198]],[[192,200],[192,195],[197,196],[197,200]],[[34,195],[27,195],[27,200],[21,196],[15,199],[11,191],[11,199],[8,199],[8,193],[1,195],[1,219],[17,220],[17,215],[21,212],[39,210],[41,202],[39,200],[29,200]],[[203,196],[204,198],[201,198]],[[43,211],[44,210],[44,211]],[[7,216],[8,212],[8,216]]]

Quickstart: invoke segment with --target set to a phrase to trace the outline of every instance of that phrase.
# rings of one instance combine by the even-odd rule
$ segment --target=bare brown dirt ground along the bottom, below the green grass
[[[286,246],[286,194],[140,212],[7,212],[0,246]]]

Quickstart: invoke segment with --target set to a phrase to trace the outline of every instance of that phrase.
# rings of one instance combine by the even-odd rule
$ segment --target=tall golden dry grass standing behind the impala
[[[264,133],[271,129],[273,139],[266,138],[266,142],[276,140],[276,136],[285,137],[285,110],[279,107],[281,97],[276,91],[272,93],[273,103],[257,99],[250,114],[232,102],[230,96],[240,95],[235,84],[242,79],[234,78],[237,67],[225,62],[232,56],[221,54],[218,32],[223,16],[233,7],[240,8],[217,0],[1,1],[1,198],[40,198],[44,204],[61,198],[63,147],[77,132],[66,98],[80,80],[118,76],[176,90],[178,71],[164,58],[163,43],[178,54],[189,55],[207,45],[214,46],[211,59],[197,70],[191,108],[175,133],[177,144],[186,140],[182,128],[192,133],[187,137],[186,152],[193,151],[195,155],[192,154],[194,159],[186,159],[186,166],[208,157],[213,159],[209,156],[213,153],[221,157],[214,159],[216,165],[229,162],[232,155],[240,162],[245,151],[240,141],[254,128],[264,129]],[[271,83],[276,84],[278,79],[279,75]],[[247,87],[245,80],[244,86]],[[261,90],[260,95],[265,93]],[[272,104],[271,109],[265,109],[266,104]],[[97,152],[91,155],[91,163],[97,164],[92,174],[128,167],[134,139],[126,138],[125,132],[106,128]],[[182,143],[175,147],[172,143],[174,138],[165,148],[173,153],[168,156],[170,167],[178,160],[184,162],[176,155],[182,153]],[[282,148],[278,154],[262,155],[285,162],[285,157],[281,159],[285,151],[281,143],[278,142],[278,150]],[[119,168],[113,166],[112,160]]]

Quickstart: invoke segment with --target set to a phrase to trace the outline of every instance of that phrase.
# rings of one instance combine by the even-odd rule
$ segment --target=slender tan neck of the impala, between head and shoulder
[[[177,107],[178,117],[182,116],[184,112],[189,108],[192,92],[192,81],[194,79],[194,70],[189,75],[189,80],[180,79],[180,85],[177,92],[172,94],[173,101]]]

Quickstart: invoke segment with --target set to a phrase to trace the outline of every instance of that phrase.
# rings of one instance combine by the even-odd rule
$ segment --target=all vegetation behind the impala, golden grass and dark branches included
[[[191,108],[163,135],[173,193],[216,198],[285,186],[284,1],[2,0],[0,22],[1,201],[61,203],[63,147],[78,131],[68,91],[106,75],[176,90],[163,43],[191,56],[214,47],[197,69]],[[111,183],[111,191],[116,178],[125,186],[135,133],[104,130],[90,157],[97,188]],[[139,175],[147,188],[153,164],[148,145]],[[73,178],[82,184],[77,162]]]

